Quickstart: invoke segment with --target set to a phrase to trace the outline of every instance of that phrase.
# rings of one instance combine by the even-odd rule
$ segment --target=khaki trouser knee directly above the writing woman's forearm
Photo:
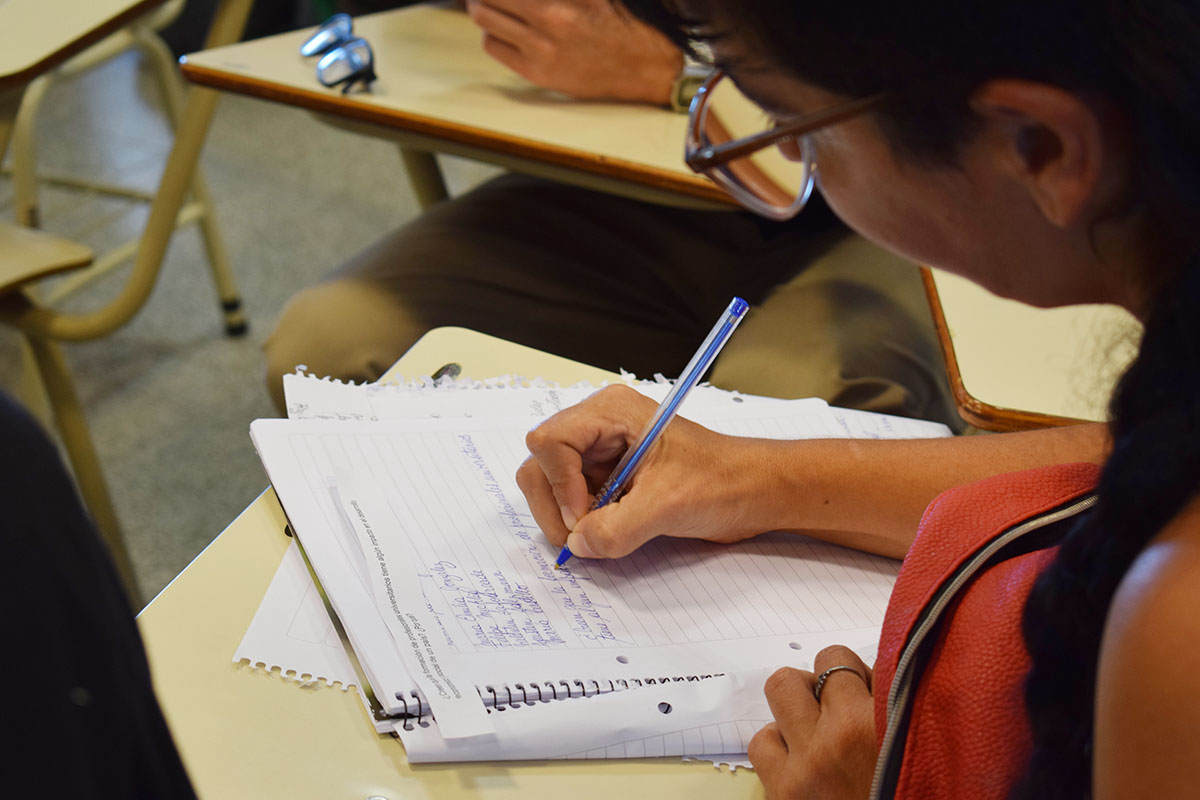
[[[853,235],[750,311],[710,381],[961,426],[917,267]]]

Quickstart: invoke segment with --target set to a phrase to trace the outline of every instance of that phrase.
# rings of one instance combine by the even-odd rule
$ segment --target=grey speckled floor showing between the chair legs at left
[[[53,86],[42,106],[38,166],[154,190],[170,148],[155,82],[136,54]],[[452,188],[494,170],[445,162]],[[178,231],[144,309],[108,338],[65,351],[88,413],[138,575],[152,597],[266,486],[251,420],[272,416],[260,345],[300,285],[412,218],[418,209],[394,145],[323,125],[292,108],[222,97],[203,168],[250,333],[222,333],[194,228]],[[136,201],[43,186],[44,229],[97,253],[140,233]],[[12,185],[0,179],[0,215]],[[127,269],[67,301],[94,307]],[[16,338],[0,331],[0,387],[16,391]]]

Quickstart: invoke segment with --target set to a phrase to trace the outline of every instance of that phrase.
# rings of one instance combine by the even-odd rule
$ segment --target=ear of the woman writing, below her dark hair
[[[1075,224],[1103,203],[1103,122],[1079,95],[1032,80],[989,80],[971,108],[998,133],[1002,168],[1024,185],[1055,225]]]

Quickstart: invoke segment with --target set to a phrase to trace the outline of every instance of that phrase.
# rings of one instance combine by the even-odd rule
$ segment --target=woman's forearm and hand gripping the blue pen
[[[610,386],[526,438],[517,485],[546,537],[584,558],[626,555],[655,536],[734,542],[768,530],[901,558],[940,492],[1004,471],[1103,461],[1104,426],[913,441],[778,441],[676,417],[617,503],[594,493],[655,411]],[[568,536],[570,534],[570,540]]]

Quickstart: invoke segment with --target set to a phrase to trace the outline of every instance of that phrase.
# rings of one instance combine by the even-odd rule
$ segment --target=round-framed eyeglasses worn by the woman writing
[[[743,207],[769,219],[791,219],[808,203],[816,182],[809,134],[863,114],[882,100],[882,95],[853,100],[775,125],[718,71],[692,97],[684,161]],[[785,145],[791,152],[782,151]]]

